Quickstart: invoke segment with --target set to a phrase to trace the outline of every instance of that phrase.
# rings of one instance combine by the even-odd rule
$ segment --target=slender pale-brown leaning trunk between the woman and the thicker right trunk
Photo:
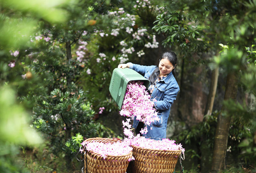
[[[204,110],[204,115],[212,114],[212,108],[213,108],[214,98],[215,98],[216,89],[217,89],[218,77],[219,77],[219,67],[215,68],[212,71],[211,86],[210,86],[209,95],[207,98],[206,107]]]

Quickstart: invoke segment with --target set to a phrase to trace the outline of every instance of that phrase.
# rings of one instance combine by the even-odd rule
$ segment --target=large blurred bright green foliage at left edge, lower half
[[[42,139],[29,128],[28,113],[16,103],[15,94],[7,86],[0,87],[0,140],[13,144],[40,144]]]

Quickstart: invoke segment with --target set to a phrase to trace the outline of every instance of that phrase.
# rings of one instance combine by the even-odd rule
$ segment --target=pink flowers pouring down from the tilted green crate
[[[136,120],[143,122],[146,127],[141,129],[140,132],[142,134],[148,132],[147,126],[150,125],[151,122],[159,121],[156,109],[153,107],[154,102],[150,100],[150,95],[145,89],[146,87],[143,85],[143,82],[129,82],[127,84],[123,106],[119,112],[120,115],[127,117],[136,116]],[[133,133],[131,131],[131,125],[129,125],[131,119],[126,120],[127,122],[123,121],[124,134],[128,136],[128,138],[132,138]]]

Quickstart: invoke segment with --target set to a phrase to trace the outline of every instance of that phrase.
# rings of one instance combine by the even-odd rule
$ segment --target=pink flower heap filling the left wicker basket
[[[80,149],[81,153],[84,151],[84,148],[87,151],[92,151],[99,154],[105,160],[109,155],[111,156],[121,156],[127,155],[132,151],[132,147],[127,145],[126,142],[115,142],[115,143],[103,143],[103,142],[88,142],[83,141],[83,149]],[[128,161],[134,160],[134,157],[128,159]]]

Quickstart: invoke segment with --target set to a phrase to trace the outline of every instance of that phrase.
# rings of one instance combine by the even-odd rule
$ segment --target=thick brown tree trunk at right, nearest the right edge
[[[227,76],[226,90],[224,100],[236,99],[237,95],[237,76],[235,73],[229,73]],[[232,115],[222,115],[226,108],[222,106],[216,127],[214,140],[213,158],[212,158],[212,173],[220,172],[225,169],[225,157],[228,143],[228,132]]]

